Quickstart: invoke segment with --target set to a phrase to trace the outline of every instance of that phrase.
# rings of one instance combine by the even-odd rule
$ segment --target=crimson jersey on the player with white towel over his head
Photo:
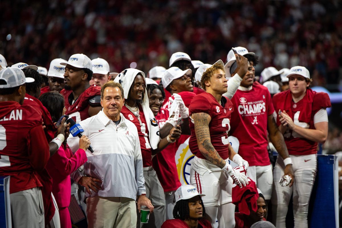
[[[138,130],[141,155],[143,157],[143,167],[151,166],[152,165],[152,148],[151,148],[151,145],[149,144],[148,128],[147,128],[143,108],[141,107],[141,105],[139,105],[139,115],[140,115],[140,120],[142,122],[142,125],[140,125],[138,118],[134,116],[134,114],[126,106],[124,105],[122,106],[121,113],[126,119],[134,123]]]

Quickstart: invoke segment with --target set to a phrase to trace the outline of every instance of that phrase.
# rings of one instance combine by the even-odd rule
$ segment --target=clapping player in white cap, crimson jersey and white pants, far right
[[[326,108],[331,103],[328,94],[316,93],[309,88],[312,79],[305,67],[292,67],[287,77],[290,89],[274,95],[273,104],[281,111],[277,125],[284,135],[296,181],[290,188],[278,184],[286,175],[285,160],[278,156],[273,172],[273,218],[276,227],[286,227],[287,209],[293,193],[294,227],[308,227],[308,206],[317,170],[317,143],[324,143],[327,139]]]

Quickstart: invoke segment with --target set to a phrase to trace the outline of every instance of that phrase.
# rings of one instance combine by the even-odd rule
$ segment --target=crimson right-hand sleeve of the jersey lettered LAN
[[[36,171],[44,169],[50,158],[49,144],[46,140],[42,125],[33,127],[28,133],[30,165]]]

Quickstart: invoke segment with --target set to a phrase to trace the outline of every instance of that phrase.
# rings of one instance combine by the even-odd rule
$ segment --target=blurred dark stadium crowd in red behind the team
[[[104,58],[111,72],[169,67],[172,53],[226,61],[234,46],[255,52],[256,75],[301,65],[313,86],[342,91],[339,0],[1,1],[0,53],[11,66],[49,68],[54,58]],[[326,153],[342,151],[340,104],[333,104]]]

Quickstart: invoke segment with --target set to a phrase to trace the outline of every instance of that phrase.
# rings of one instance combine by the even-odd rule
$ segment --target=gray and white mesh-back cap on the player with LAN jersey
[[[6,84],[0,85],[0,89],[14,88],[25,83],[34,82],[34,78],[26,78],[21,69],[14,67],[7,67],[0,70],[0,81]]]

